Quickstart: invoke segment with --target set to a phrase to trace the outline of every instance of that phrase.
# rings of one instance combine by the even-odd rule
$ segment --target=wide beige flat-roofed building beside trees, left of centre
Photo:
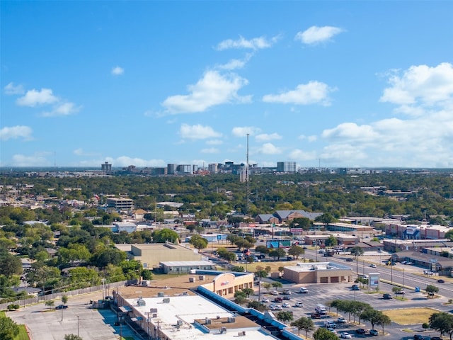
[[[190,249],[180,244],[149,243],[149,244],[115,244],[117,249],[126,251],[127,258],[140,261],[144,268],[159,267],[165,261],[202,261],[205,256],[197,249]]]

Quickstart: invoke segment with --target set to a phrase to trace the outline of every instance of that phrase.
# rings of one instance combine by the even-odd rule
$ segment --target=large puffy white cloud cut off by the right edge
[[[449,106],[453,104],[453,65],[444,62],[436,67],[419,65],[409,67],[400,75],[391,72],[389,88],[384,89],[382,102],[401,106],[399,112],[411,115],[423,114],[420,108],[411,106]]]

